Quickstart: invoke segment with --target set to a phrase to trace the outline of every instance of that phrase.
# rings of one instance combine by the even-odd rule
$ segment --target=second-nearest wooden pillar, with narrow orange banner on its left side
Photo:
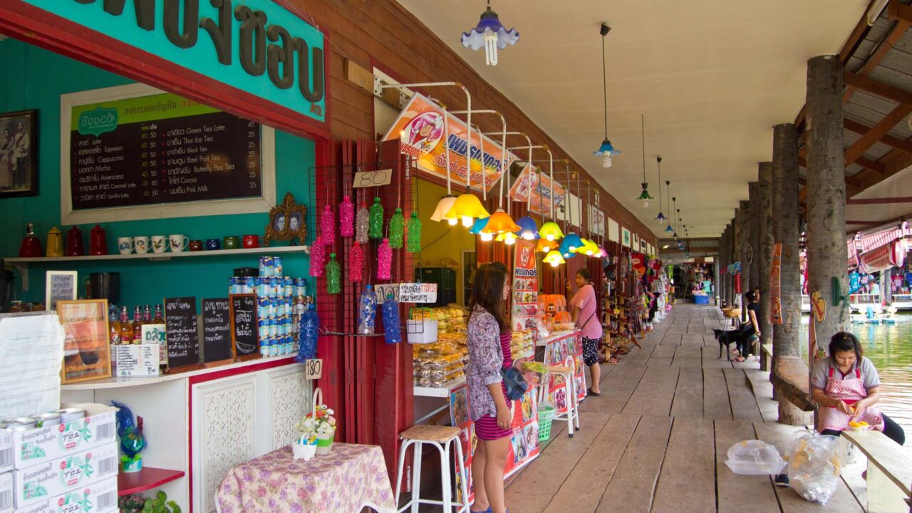
[[[798,132],[792,123],[772,129],[772,236],[782,244],[779,271],[782,324],[772,326],[772,368],[780,358],[801,358],[801,276],[798,204]],[[782,398],[782,394],[777,396]],[[784,399],[779,401],[779,422],[800,425],[807,414]]]

